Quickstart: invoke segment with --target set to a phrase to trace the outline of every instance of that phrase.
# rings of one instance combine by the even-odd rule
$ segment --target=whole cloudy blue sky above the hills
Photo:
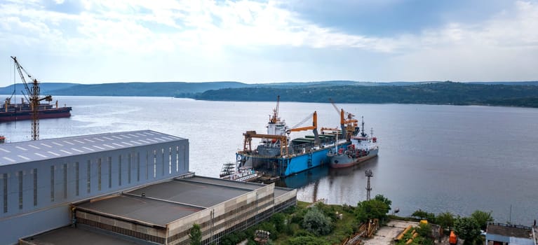
[[[538,80],[538,0],[0,0],[0,87]]]

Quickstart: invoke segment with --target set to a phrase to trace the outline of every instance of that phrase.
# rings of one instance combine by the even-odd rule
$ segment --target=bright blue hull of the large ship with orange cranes
[[[343,147],[346,145],[344,144]],[[329,151],[329,147],[318,148],[309,153],[291,155],[286,158],[237,153],[237,158],[243,160],[244,166],[252,167],[262,175],[286,177],[329,164],[330,159],[327,155]]]

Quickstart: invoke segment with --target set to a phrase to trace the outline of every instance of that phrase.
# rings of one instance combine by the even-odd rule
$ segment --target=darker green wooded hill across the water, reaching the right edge
[[[536,85],[487,85],[476,83],[419,83],[385,86],[241,87],[208,90],[196,99],[222,101],[399,103],[399,104],[493,104],[538,107]]]

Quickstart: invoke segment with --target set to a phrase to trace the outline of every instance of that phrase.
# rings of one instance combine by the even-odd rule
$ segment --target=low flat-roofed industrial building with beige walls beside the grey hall
[[[201,225],[203,244],[267,220],[297,203],[297,191],[187,175],[135,190],[73,204],[76,226],[137,244],[190,244]],[[25,244],[76,244],[72,229],[28,237]],[[64,239],[59,239],[64,237]],[[54,243],[55,240],[57,243]],[[102,238],[100,238],[102,239]],[[61,241],[61,242],[58,242]]]

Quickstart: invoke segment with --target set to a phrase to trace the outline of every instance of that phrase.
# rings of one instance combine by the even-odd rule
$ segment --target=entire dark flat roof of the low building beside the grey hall
[[[75,206],[102,216],[166,227],[168,223],[263,186],[266,185],[194,176],[144,186]],[[275,197],[289,191],[292,189],[275,188]]]

